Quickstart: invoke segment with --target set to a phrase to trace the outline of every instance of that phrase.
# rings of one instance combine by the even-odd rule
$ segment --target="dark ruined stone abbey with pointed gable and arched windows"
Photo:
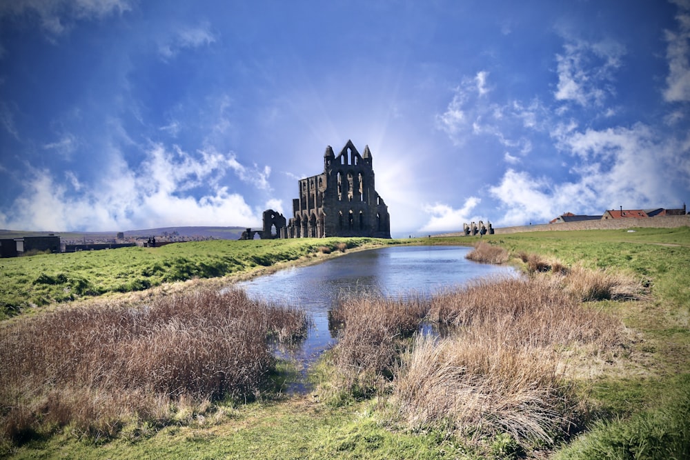
[[[348,141],[336,156],[331,146],[324,154],[324,172],[299,180],[299,198],[293,199],[293,217],[264,212],[262,237],[391,237],[388,206],[374,188],[369,146],[360,155]]]

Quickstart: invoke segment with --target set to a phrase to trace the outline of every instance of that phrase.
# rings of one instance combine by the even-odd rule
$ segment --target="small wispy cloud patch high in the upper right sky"
[[[624,53],[624,47],[614,41],[565,43],[562,54],[556,54],[555,99],[583,107],[602,106],[609,95],[615,94],[613,73],[620,68]]]

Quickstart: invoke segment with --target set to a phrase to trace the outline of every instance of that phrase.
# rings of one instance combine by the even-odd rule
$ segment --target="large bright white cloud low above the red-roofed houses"
[[[678,206],[675,190],[690,185],[690,137],[661,138],[646,125],[604,130],[553,131],[558,148],[573,156],[571,179],[535,178],[509,169],[489,192],[500,201],[504,226],[544,223],[563,212]]]

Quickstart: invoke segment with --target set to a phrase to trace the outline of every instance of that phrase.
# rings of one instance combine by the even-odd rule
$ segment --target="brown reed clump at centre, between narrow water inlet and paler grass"
[[[355,396],[380,390],[393,375],[402,339],[410,337],[428,311],[421,296],[387,299],[378,294],[342,296],[331,312],[339,330],[333,364],[340,389]]]

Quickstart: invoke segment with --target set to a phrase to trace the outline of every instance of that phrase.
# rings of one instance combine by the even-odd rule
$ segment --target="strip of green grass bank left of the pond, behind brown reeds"
[[[322,246],[335,252],[342,241],[215,240],[0,259],[0,319],[49,303],[242,274],[322,254]],[[375,241],[355,238],[348,239],[347,244],[355,248]]]

